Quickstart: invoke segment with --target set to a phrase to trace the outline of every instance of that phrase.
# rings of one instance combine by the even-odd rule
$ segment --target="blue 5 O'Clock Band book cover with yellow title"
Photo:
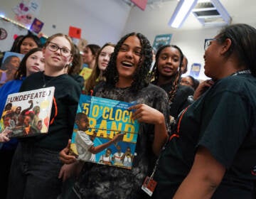
[[[132,103],[80,95],[70,154],[81,161],[132,168],[139,122]],[[94,152],[92,150],[100,151]]]

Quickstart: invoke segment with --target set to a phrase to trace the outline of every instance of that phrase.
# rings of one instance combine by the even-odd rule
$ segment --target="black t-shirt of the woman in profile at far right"
[[[190,171],[198,146],[206,147],[227,169],[213,198],[252,198],[252,182],[256,181],[255,93],[252,75],[225,77],[188,107],[179,137],[171,139],[161,153],[155,175],[156,198],[172,198]]]

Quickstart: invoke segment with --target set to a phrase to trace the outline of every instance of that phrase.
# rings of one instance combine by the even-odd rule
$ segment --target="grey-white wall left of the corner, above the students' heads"
[[[0,14],[14,19],[11,10],[21,0],[1,1]],[[116,43],[126,24],[130,7],[119,0],[41,0],[39,20],[46,36],[67,33],[69,26],[82,28],[82,38],[89,43]],[[53,28],[55,25],[55,28]]]

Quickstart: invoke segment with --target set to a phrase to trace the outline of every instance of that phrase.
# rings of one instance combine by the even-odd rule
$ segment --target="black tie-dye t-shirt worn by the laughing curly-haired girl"
[[[104,84],[95,88],[95,96],[147,104],[162,112],[166,124],[169,123],[168,97],[160,87],[149,85],[134,93],[129,87],[107,89]],[[75,183],[76,192],[81,198],[144,198],[146,193],[143,193],[141,185],[156,160],[152,151],[153,141],[154,125],[141,123],[132,170],[86,162]]]

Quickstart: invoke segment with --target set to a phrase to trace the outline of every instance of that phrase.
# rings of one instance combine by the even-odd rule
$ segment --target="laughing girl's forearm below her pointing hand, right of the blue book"
[[[154,126],[154,142],[153,151],[157,156],[159,155],[161,148],[164,146],[168,139],[168,132],[164,120],[164,114],[161,114],[159,122]]]

